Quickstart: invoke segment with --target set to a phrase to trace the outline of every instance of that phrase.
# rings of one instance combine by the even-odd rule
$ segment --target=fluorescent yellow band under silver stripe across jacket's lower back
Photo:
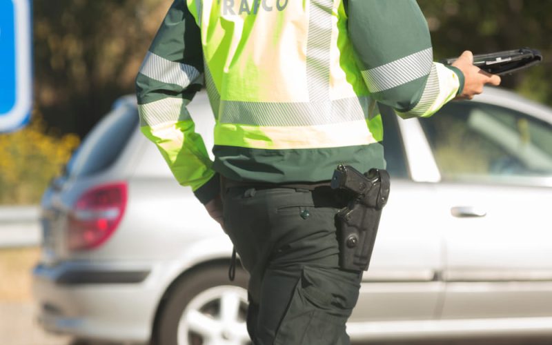
[[[244,148],[331,148],[376,143],[366,120],[318,126],[215,126],[215,145]]]

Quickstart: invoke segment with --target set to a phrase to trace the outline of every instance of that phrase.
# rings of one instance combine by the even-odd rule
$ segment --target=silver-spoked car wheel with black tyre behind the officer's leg
[[[157,345],[251,344],[246,327],[248,277],[227,266],[185,275],[170,290],[156,327]]]

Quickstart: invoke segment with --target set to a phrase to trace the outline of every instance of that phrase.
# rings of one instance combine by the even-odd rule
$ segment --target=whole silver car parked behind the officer
[[[190,104],[213,143],[200,92]],[[382,109],[393,178],[353,340],[552,335],[552,110],[489,88],[428,119]],[[232,246],[120,99],[42,200],[39,319],[78,338],[248,344]]]

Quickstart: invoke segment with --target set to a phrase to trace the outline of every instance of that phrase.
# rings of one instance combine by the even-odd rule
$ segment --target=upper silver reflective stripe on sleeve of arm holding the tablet
[[[431,72],[433,49],[428,48],[383,66],[362,71],[370,92],[381,92],[424,77]]]

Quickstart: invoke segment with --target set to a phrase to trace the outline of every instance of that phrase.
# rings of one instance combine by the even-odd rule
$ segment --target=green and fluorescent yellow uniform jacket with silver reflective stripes
[[[175,0],[136,80],[141,130],[203,203],[222,174],[331,179],[339,163],[384,168],[376,101],[433,115],[462,73],[433,62],[414,0]],[[206,87],[210,161],[186,106]]]

